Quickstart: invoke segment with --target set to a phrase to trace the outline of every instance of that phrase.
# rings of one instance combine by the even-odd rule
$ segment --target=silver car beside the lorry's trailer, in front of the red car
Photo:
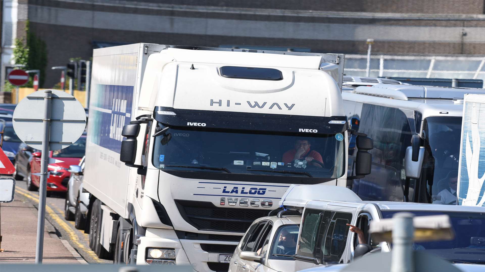
[[[88,212],[89,193],[82,192],[82,178],[84,171],[85,156],[79,165],[69,166],[71,176],[67,182],[67,193],[65,195],[64,218],[73,221],[74,227],[84,229],[86,225],[86,214]]]

